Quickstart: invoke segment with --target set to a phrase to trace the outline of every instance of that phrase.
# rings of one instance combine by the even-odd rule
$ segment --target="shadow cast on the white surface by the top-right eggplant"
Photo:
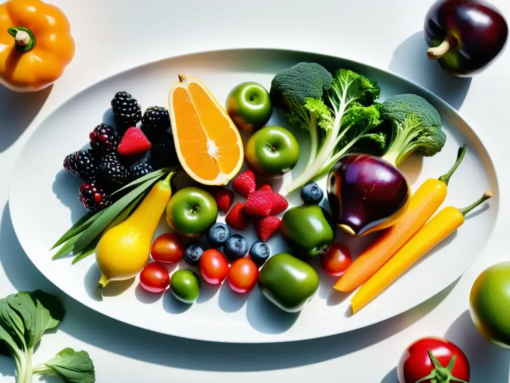
[[[453,108],[460,108],[471,85],[471,78],[448,75],[435,60],[427,58],[427,48],[423,31],[416,32],[397,47],[389,69],[427,88]]]

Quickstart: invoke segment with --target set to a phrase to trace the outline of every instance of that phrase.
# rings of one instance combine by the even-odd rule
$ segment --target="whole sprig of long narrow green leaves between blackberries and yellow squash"
[[[95,251],[101,235],[108,229],[125,221],[136,205],[148,193],[149,187],[170,172],[175,167],[164,167],[146,174],[143,177],[121,187],[112,195],[133,188],[129,193],[119,198],[115,203],[95,214],[85,214],[77,223],[72,225],[53,245],[50,250],[62,245],[52,259],[61,258],[71,252],[75,255],[72,264],[84,259]]]

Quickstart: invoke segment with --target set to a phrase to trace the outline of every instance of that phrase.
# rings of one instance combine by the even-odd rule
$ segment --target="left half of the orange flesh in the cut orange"
[[[177,88],[172,97],[177,139],[186,164],[201,179],[214,180],[220,173],[218,163],[208,154],[208,137],[188,92],[184,88]]]

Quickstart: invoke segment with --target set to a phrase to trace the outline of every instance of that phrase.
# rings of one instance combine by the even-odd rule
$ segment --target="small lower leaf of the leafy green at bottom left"
[[[94,364],[86,351],[64,348],[33,369],[34,374],[57,375],[66,383],[94,383]]]

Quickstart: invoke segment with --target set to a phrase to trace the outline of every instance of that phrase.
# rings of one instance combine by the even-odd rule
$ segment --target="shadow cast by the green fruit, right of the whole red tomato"
[[[469,311],[466,310],[452,323],[444,338],[466,354],[471,368],[470,381],[507,383],[510,380],[510,351],[484,339],[474,326]]]

